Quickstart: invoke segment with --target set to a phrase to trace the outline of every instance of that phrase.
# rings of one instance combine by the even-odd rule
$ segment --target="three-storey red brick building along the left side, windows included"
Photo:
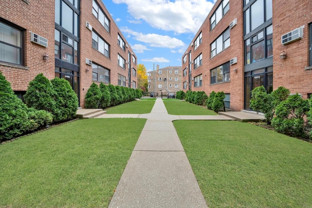
[[[101,0],[2,0],[0,71],[20,98],[39,73],[65,78],[81,107],[92,82],[137,88],[137,57]]]

